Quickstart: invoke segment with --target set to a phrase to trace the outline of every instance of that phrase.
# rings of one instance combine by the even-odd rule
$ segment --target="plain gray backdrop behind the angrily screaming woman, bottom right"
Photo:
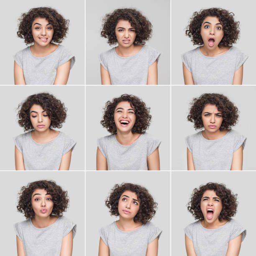
[[[234,194],[238,194],[237,214],[233,218],[247,230],[239,256],[251,255],[256,228],[250,216],[256,211],[256,205],[251,200],[255,194],[255,179],[256,172],[172,172],[172,255],[187,255],[183,229],[196,221],[188,212],[187,203],[193,189],[207,182],[224,183]]]

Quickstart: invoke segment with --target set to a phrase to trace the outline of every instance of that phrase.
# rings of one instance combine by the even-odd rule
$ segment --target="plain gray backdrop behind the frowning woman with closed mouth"
[[[187,146],[185,137],[195,131],[193,123],[187,121],[189,103],[203,93],[221,93],[229,98],[240,111],[238,124],[232,129],[247,137],[243,150],[243,169],[255,170],[255,141],[253,118],[255,109],[255,86],[172,86],[172,170],[187,170]]]

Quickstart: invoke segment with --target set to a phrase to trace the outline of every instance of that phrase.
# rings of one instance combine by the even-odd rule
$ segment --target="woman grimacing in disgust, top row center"
[[[100,54],[102,84],[157,84],[160,53],[145,45],[151,37],[150,21],[135,9],[106,14],[100,35],[118,46]]]

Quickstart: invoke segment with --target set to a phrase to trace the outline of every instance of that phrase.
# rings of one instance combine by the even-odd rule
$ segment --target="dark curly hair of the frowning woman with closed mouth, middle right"
[[[191,108],[187,120],[194,123],[195,129],[204,127],[202,123],[202,111],[207,104],[216,105],[218,111],[221,111],[223,121],[220,130],[231,130],[231,126],[236,125],[238,122],[238,108],[228,97],[218,93],[204,93],[199,98],[194,98],[190,103]]]

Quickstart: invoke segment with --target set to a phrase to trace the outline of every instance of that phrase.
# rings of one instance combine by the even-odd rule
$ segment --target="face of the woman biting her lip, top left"
[[[38,46],[47,46],[51,43],[54,34],[54,28],[45,18],[35,18],[32,22],[32,36],[34,44]]]

